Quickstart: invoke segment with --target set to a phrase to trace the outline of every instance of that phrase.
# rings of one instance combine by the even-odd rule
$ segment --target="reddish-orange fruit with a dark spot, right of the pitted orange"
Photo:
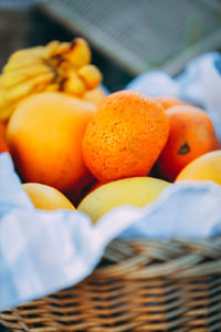
[[[167,111],[170,134],[156,168],[162,178],[175,180],[180,170],[197,157],[220,144],[209,115],[193,106],[175,106]]]

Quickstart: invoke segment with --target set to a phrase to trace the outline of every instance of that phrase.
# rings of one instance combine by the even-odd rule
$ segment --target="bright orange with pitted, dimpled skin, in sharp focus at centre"
[[[101,181],[145,176],[158,158],[169,134],[161,105],[135,91],[106,96],[83,138],[83,155]]]

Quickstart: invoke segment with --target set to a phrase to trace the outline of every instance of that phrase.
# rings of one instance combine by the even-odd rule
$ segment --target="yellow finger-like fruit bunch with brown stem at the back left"
[[[82,97],[101,81],[82,38],[17,51],[0,75],[0,118],[8,118],[17,104],[33,93],[62,91]]]

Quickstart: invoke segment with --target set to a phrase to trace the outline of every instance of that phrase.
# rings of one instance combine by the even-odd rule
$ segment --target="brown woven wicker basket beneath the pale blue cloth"
[[[0,313],[12,331],[221,331],[221,237],[115,240],[77,286]]]

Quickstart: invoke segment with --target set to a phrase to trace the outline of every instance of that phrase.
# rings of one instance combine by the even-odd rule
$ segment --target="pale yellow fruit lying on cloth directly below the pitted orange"
[[[124,178],[105,184],[90,193],[77,209],[96,222],[110,209],[122,205],[144,207],[155,200],[169,183],[151,177]]]

